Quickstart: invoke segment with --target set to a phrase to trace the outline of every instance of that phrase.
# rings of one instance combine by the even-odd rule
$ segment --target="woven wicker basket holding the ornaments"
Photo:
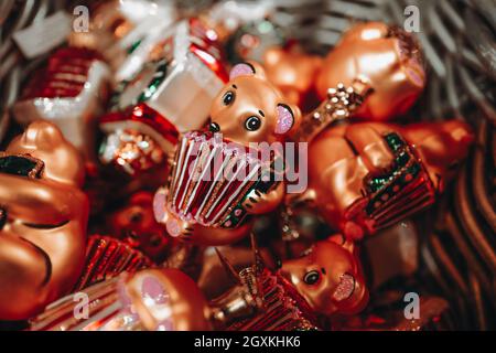
[[[171,0],[172,1],[172,0]],[[270,1],[270,0],[259,0]],[[80,4],[84,1],[78,1]],[[193,13],[214,1],[176,1]],[[460,118],[477,130],[459,180],[442,200],[421,245],[421,279],[445,297],[457,329],[496,328],[496,3],[486,0],[274,0],[273,21],[315,53],[326,53],[356,21],[403,24],[407,6],[420,10],[417,33],[428,62],[428,86],[411,110],[417,119]],[[0,147],[9,107],[21,84],[44,57],[23,58],[12,34],[75,3],[61,0],[0,2]],[[1,143],[3,141],[3,145]]]

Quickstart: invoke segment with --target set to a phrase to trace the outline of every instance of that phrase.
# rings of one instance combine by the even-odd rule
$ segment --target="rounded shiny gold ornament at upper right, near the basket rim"
[[[425,85],[416,39],[381,22],[353,26],[324,60],[316,90],[325,99],[328,88],[339,83],[351,86],[355,79],[374,89],[356,117],[385,121],[405,114]]]

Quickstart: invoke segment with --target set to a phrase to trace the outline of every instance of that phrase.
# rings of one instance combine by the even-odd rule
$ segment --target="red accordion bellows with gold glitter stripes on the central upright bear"
[[[249,193],[267,193],[279,182],[270,173],[280,157],[263,161],[250,152],[212,132],[184,136],[168,182],[166,207],[176,218],[203,226],[239,226],[248,216],[244,201]]]

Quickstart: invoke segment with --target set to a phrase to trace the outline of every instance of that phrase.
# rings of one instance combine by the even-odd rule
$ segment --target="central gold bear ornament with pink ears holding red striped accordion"
[[[250,153],[283,142],[298,129],[301,113],[267,81],[258,64],[241,63],[233,67],[209,115],[209,131],[188,132],[180,141],[170,181],[155,194],[154,214],[173,237],[231,244],[249,233],[251,223],[246,217],[274,210],[284,196],[282,181],[252,178],[258,175],[254,170],[272,169],[272,161]],[[198,151],[196,158],[193,150]],[[230,165],[242,167],[229,174]],[[238,178],[241,168],[246,174]],[[209,170],[220,172],[203,178]]]

